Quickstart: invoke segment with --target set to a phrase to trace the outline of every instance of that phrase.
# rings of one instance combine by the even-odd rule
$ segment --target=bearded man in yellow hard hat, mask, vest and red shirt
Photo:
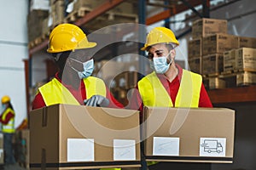
[[[131,99],[131,109],[143,113],[143,106],[161,107],[212,107],[212,102],[202,83],[202,77],[184,70],[175,63],[179,45],[172,30],[155,27],[149,31],[141,48],[148,54],[153,72],[137,83],[137,91]],[[149,163],[149,169],[159,164]]]

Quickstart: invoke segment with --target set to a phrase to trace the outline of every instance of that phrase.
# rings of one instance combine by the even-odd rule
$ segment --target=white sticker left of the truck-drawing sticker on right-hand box
[[[179,156],[179,138],[154,137],[153,156]]]

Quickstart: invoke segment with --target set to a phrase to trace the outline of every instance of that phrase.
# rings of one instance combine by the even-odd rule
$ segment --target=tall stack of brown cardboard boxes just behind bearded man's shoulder
[[[227,27],[227,20],[203,18],[193,22],[193,39],[189,41],[188,45],[189,68],[191,71],[203,75],[204,79],[208,74],[216,75],[223,70],[221,51],[225,48],[232,48],[234,39],[233,36],[227,34]],[[230,44],[224,43],[224,38],[229,39]],[[209,85],[207,84],[206,87]]]

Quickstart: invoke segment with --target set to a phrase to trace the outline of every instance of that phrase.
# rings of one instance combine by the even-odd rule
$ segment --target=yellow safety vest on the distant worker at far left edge
[[[7,108],[3,112],[3,116],[2,116],[3,121],[5,121],[5,118],[9,112],[11,112],[12,114],[15,115],[14,110],[12,110],[11,108]],[[3,133],[15,133],[15,118],[14,117],[12,117],[6,125],[2,124],[2,132]]]

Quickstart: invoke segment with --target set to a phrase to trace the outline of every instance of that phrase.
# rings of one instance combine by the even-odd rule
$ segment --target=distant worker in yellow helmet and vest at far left
[[[8,95],[2,97],[2,108],[0,122],[2,123],[3,133],[3,158],[4,166],[8,167],[9,165],[15,164],[12,142],[15,133],[15,111]]]

